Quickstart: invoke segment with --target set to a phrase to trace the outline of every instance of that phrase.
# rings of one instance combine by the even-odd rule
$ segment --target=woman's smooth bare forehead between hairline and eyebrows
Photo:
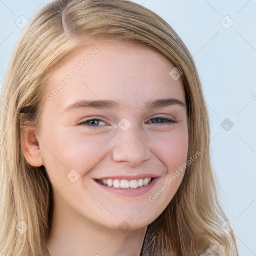
[[[51,103],[65,107],[80,100],[113,99],[139,107],[154,98],[185,101],[182,77],[174,80],[175,66],[148,46],[130,42],[98,41],[75,50],[48,80]]]

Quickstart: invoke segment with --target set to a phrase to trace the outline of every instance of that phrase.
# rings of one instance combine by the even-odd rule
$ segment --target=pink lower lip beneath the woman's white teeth
[[[115,188],[113,186],[110,187],[108,185],[103,185],[96,180],[94,180],[94,181],[102,189],[105,189],[106,191],[109,191],[111,193],[115,193],[115,194],[123,195],[123,196],[135,197],[135,196],[139,196],[139,195],[143,195],[143,194],[147,193],[150,189],[153,188],[153,186],[156,184],[158,179],[159,179],[159,177],[154,178],[148,185],[141,186],[138,188]]]

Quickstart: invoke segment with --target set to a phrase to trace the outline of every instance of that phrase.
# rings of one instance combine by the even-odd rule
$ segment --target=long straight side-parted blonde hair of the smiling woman
[[[206,106],[193,59],[178,35],[158,15],[128,0],[59,0],[42,8],[20,37],[4,79],[0,106],[0,254],[49,255],[52,186],[44,166],[29,165],[20,132],[38,127],[52,69],[86,40],[98,37],[147,45],[164,54],[183,75],[188,105],[188,159],[175,196],[148,228],[143,256],[199,255],[211,242],[223,255],[238,255],[233,231],[217,198],[210,164]],[[24,221],[29,230],[16,227]],[[219,248],[220,248],[219,247]]]

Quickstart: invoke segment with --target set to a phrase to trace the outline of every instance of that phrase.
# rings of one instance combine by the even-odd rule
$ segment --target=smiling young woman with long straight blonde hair
[[[238,255],[194,62],[147,8],[44,7],[0,114],[2,256]]]

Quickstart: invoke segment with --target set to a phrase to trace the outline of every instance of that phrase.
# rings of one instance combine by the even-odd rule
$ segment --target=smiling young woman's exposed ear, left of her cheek
[[[26,127],[25,129],[21,128],[21,131],[20,131],[21,152],[23,153],[26,161],[34,167],[40,167],[44,164],[37,137],[38,137],[38,133],[35,128],[32,128],[32,127]]]

